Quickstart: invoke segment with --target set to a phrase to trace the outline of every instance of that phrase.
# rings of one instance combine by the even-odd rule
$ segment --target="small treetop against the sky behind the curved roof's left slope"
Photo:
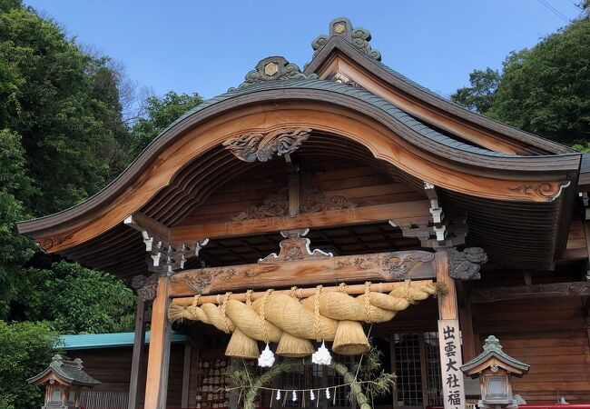
[[[168,125],[189,109],[202,103],[198,94],[176,94],[171,91],[162,97],[150,96],[145,101],[145,115],[133,125],[132,155],[137,157]]]

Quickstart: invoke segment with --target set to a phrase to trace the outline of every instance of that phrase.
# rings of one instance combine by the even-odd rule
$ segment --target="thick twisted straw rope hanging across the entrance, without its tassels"
[[[196,295],[190,305],[172,304],[169,319],[171,322],[201,321],[226,333],[239,327],[245,336],[263,342],[276,343],[284,338],[284,333],[300,340],[332,341],[343,321],[385,322],[408,305],[438,294],[444,288],[432,283],[412,285],[408,281],[389,293],[371,291],[369,282],[364,284],[364,293],[359,296],[347,294],[347,285],[343,283],[337,291],[323,290],[318,286],[314,294],[300,301],[297,294],[301,289],[298,288],[292,288],[287,294],[270,290],[255,301],[252,301],[252,293],[247,292],[243,302],[232,299],[233,295],[230,297],[231,293],[227,293],[222,300],[218,297],[220,307],[211,302],[198,306],[202,297]]]

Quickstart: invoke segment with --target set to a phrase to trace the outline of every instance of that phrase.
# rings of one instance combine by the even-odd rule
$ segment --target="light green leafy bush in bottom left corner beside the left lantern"
[[[0,321],[0,409],[37,409],[43,391],[26,380],[51,362],[55,334],[47,324]]]

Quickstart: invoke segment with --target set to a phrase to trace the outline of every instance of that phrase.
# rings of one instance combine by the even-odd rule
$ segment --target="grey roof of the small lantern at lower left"
[[[63,384],[66,386],[92,387],[101,384],[83,370],[84,366],[80,358],[74,361],[64,359],[60,354],[54,354],[51,364],[41,373],[27,379],[29,384],[39,386],[45,384]]]

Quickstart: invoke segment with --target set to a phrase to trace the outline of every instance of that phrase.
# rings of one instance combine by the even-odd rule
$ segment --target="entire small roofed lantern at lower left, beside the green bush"
[[[47,369],[28,379],[29,384],[45,386],[45,404],[41,409],[76,409],[80,389],[100,384],[83,367],[80,358],[70,361],[55,354]]]

